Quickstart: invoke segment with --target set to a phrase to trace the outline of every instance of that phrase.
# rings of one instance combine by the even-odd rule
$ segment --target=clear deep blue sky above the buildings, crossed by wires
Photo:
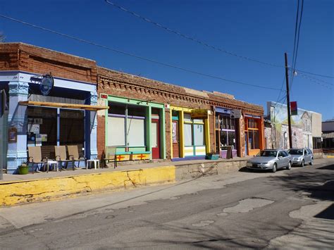
[[[297,0],[109,1],[240,56],[284,65],[284,52],[287,52],[289,64],[292,63]],[[296,68],[320,75],[334,75],[333,13],[334,1],[304,0]],[[209,49],[135,18],[104,0],[0,0],[0,14],[130,54],[230,80],[280,89],[285,79],[284,68],[245,61]],[[265,112],[266,101],[277,101],[280,94],[277,90],[185,73],[4,18],[0,18],[0,32],[6,35],[6,42],[25,42],[90,58],[106,68],[193,89],[233,94],[236,99],[264,106]],[[333,85],[333,78],[298,74],[292,85],[290,101],[297,101],[299,108],[322,113],[323,120],[334,118]],[[285,89],[285,82],[283,86]],[[281,99],[283,93],[280,96]]]

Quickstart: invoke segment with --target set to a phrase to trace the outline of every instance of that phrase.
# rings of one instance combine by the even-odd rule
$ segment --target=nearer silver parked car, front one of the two
[[[275,173],[279,168],[291,169],[292,157],[285,150],[261,150],[254,158],[247,161],[250,170],[271,170]]]

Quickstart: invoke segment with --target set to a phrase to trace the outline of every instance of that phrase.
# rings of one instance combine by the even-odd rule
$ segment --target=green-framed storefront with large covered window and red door
[[[106,146],[116,146],[117,161],[165,159],[165,110],[151,101],[107,96]]]

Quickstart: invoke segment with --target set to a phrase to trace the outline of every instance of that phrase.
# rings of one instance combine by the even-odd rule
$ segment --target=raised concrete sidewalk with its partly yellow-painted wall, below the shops
[[[120,165],[118,168],[64,170],[7,175],[0,181],[0,206],[64,199],[89,192],[129,189],[146,185],[219,175],[245,167],[247,158],[163,161]]]

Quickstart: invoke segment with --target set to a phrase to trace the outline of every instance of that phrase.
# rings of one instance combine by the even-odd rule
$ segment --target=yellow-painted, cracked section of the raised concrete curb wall
[[[0,206],[63,199],[86,192],[175,182],[175,166],[0,182]]]

